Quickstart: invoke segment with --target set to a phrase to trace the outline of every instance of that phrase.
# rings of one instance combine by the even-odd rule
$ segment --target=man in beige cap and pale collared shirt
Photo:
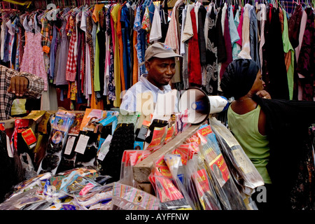
[[[146,49],[145,62],[147,74],[140,77],[140,80],[132,85],[123,96],[123,102],[120,105],[120,111],[134,112],[139,111],[141,102],[137,102],[137,94],[151,92],[153,94],[153,103],[158,99],[158,94],[165,94],[172,90],[169,81],[176,72],[175,57],[178,55],[165,43],[153,43]],[[137,103],[140,107],[137,107]],[[141,111],[139,111],[141,112]]]

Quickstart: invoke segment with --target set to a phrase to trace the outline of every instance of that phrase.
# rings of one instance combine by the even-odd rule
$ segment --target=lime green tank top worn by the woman
[[[260,106],[245,114],[228,109],[228,125],[235,139],[258,170],[265,183],[272,183],[266,165],[269,160],[269,141],[258,131]]]

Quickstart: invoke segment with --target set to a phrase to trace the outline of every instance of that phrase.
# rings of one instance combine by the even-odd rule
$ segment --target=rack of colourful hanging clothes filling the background
[[[95,3],[32,10],[1,9],[1,63],[45,80],[68,109],[119,107],[120,93],[146,73],[148,45],[164,42],[183,55],[173,87],[220,94],[221,76],[238,57],[260,66],[273,98],[314,100],[314,9],[304,3]],[[48,2],[47,2],[48,4]],[[53,94],[52,86],[58,94]],[[50,90],[50,91],[49,91]],[[43,100],[49,99],[49,100]]]

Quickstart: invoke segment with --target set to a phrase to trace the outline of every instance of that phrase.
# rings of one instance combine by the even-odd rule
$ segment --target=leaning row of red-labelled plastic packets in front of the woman
[[[161,210],[257,209],[251,194],[264,184],[262,177],[230,131],[220,122],[214,127],[217,136],[211,125],[202,125],[172,153],[155,162],[148,179]],[[226,137],[235,144],[233,148],[223,145]]]

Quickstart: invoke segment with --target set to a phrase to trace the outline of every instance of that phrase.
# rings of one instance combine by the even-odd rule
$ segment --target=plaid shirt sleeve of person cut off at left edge
[[[27,92],[25,92],[23,97],[38,99],[41,97],[41,92],[43,92],[43,78],[27,72],[18,72],[0,65],[0,120],[9,119],[12,103],[15,99],[15,94],[8,92],[10,80],[13,76],[24,76],[29,80]]]

